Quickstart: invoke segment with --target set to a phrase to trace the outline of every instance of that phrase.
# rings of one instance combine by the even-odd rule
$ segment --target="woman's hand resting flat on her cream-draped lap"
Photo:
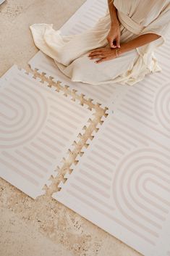
[[[116,49],[111,49],[109,47],[98,48],[90,51],[88,57],[90,57],[90,59],[101,58],[95,61],[95,63],[105,62],[106,60],[116,58]]]

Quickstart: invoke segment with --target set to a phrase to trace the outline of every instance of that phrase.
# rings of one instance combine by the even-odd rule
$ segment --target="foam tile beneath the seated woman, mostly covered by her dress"
[[[106,7],[107,1],[105,0],[85,1],[85,3],[77,9],[77,12],[60,28],[61,33],[63,35],[72,35],[82,33],[85,29],[93,27],[95,22],[105,15]],[[154,75],[148,75],[145,79],[145,83],[148,83],[148,80],[153,83],[154,81],[161,83],[161,80],[166,78],[166,74],[169,73],[170,64],[167,59],[167,52],[170,50],[169,43],[170,36],[167,36],[166,44],[156,50],[156,57],[158,57],[158,62],[163,71],[161,73],[155,73]],[[46,56],[46,54],[43,54],[41,51],[38,51],[38,53],[30,59],[29,64],[33,70],[37,69],[38,73],[46,73],[46,76],[52,76],[54,80],[60,80],[61,85],[64,86],[66,84],[70,88],[77,90],[77,93],[85,94],[85,98],[88,99],[90,97],[90,99],[93,99],[94,103],[99,102],[101,107],[106,106],[111,99],[115,99],[116,95],[119,95],[119,90],[122,91],[122,88],[129,87],[128,85],[122,86],[120,83],[100,86],[88,85],[88,83],[74,83],[70,81],[66,75],[61,73],[53,59]]]

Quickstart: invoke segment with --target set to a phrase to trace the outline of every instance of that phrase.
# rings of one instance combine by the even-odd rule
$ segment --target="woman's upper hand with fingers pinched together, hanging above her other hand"
[[[111,28],[107,36],[107,41],[109,42],[111,48],[120,48],[120,26],[118,20],[111,24]],[[116,44],[114,44],[115,41]]]

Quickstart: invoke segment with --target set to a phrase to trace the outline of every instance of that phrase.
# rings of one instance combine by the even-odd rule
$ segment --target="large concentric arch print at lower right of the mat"
[[[170,207],[169,155],[156,149],[138,149],[117,166],[112,196],[129,223],[158,237]],[[152,187],[152,191],[150,190]]]

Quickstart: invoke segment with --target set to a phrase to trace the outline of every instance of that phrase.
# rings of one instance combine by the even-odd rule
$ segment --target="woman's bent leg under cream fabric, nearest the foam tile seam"
[[[100,85],[116,83],[116,81],[124,80],[124,78],[126,80],[128,72],[132,70],[138,57],[137,51],[133,50],[115,59],[96,64],[96,59],[89,59],[88,54],[83,54],[67,67],[59,62],[56,62],[56,65],[72,81]]]

